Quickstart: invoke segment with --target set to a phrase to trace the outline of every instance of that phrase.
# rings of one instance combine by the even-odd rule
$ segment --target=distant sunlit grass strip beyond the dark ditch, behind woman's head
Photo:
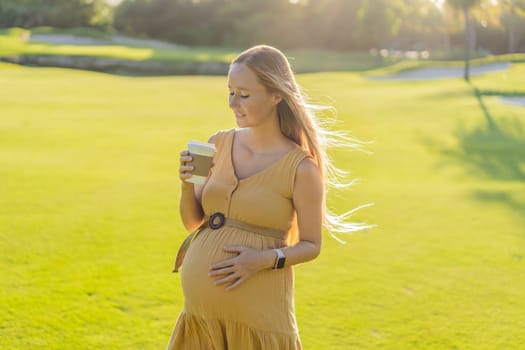
[[[155,48],[145,45],[66,45],[29,41],[33,34],[58,34],[83,38],[109,39],[110,34],[90,28],[55,29],[49,27],[0,29],[0,57],[16,56],[82,56],[120,59],[125,61],[167,61],[171,63],[229,63],[243,48],[183,46]],[[393,56],[372,56],[368,52],[342,52],[322,49],[286,50],[294,70],[300,73],[326,71],[369,71],[370,75],[395,74],[428,66],[462,66],[461,60],[406,60]],[[436,53],[437,56],[444,56]],[[474,55],[474,54],[473,54]],[[432,56],[433,57],[433,56]],[[441,57],[442,58],[442,57]],[[525,54],[480,57],[472,65],[494,62],[525,62]]]

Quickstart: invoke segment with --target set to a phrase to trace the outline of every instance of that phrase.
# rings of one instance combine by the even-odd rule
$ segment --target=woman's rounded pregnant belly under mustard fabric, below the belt
[[[225,245],[270,249],[279,244],[278,240],[232,228],[203,230],[191,243],[181,269],[186,312],[205,319],[239,320],[243,317],[253,319],[255,314],[260,319],[268,308],[285,307],[286,310],[283,302],[291,292],[291,270],[260,271],[230,291],[225,290],[227,284],[214,284],[218,277],[208,275],[211,264],[236,256],[226,253]],[[257,306],[254,305],[255,296]],[[246,315],[247,310],[252,315]]]

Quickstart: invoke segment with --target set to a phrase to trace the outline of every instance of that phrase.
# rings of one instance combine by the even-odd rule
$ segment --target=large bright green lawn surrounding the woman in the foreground
[[[472,79],[300,75],[374,152],[333,152],[330,193],[377,227],[296,268],[305,349],[525,348],[525,65]],[[162,349],[178,153],[234,127],[224,77],[0,64],[0,348]]]

